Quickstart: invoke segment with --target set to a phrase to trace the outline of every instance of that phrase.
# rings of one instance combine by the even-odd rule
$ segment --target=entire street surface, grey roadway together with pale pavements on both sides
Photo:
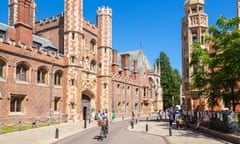
[[[148,123],[148,132],[145,131]],[[168,122],[140,120],[134,129],[129,120],[117,120],[110,125],[107,139],[97,141],[100,128],[96,121],[83,128],[81,122],[62,123],[48,127],[34,128],[26,131],[1,134],[0,144],[232,144],[217,137],[195,132],[190,129],[173,129],[169,136]],[[55,137],[56,129],[59,137]],[[166,141],[165,141],[166,140]],[[240,144],[240,142],[239,142]]]

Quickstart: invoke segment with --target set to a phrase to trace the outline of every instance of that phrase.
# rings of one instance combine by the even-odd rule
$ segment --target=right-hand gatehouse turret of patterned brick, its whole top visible
[[[97,109],[111,111],[111,66],[112,66],[112,10],[101,7],[97,10],[98,37],[98,102]]]

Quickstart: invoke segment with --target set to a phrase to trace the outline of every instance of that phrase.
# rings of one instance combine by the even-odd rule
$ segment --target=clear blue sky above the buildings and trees
[[[64,11],[64,0],[36,0],[37,20]],[[181,19],[185,0],[84,0],[84,17],[96,23],[96,10],[113,12],[113,48],[119,52],[142,49],[153,64],[165,52],[173,68],[181,72]],[[7,24],[7,2],[1,0],[0,22]],[[209,25],[220,15],[235,17],[237,0],[205,0]]]

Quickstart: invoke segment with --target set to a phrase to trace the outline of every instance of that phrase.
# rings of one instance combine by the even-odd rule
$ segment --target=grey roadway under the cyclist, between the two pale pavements
[[[136,133],[127,130],[129,121],[112,123],[109,134],[103,141],[98,140],[100,128],[91,128],[79,132],[67,139],[57,142],[56,144],[167,144],[163,137],[149,135],[146,133]]]

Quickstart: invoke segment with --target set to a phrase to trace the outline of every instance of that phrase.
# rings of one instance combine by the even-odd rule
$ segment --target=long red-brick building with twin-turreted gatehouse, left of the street
[[[9,24],[0,24],[3,125],[163,109],[160,66],[140,50],[112,49],[111,8],[98,8],[97,25],[83,18],[83,0],[65,0],[56,18],[35,22],[35,11],[35,1],[9,0]]]

